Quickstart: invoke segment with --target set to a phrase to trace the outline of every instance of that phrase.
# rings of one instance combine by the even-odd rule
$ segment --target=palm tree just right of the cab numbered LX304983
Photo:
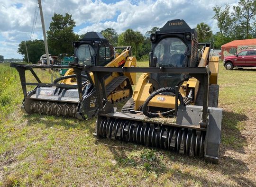
[[[210,40],[212,32],[208,24],[201,22],[200,24],[197,24],[196,30],[199,42],[206,42]]]

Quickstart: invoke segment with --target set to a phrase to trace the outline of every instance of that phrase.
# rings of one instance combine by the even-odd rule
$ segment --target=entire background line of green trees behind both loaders
[[[198,33],[199,42],[210,42],[215,49],[220,49],[221,45],[232,40],[256,38],[256,0],[239,0],[238,6],[232,8],[227,3],[225,7],[216,5],[213,7],[215,15],[212,19],[216,20],[219,32],[213,34],[211,27],[201,22],[195,29]],[[49,53],[58,55],[68,53],[73,55],[73,41],[82,39],[83,35],[77,35],[73,32],[75,21],[72,15],[54,14],[49,30],[47,31],[47,41]],[[150,35],[155,33],[159,27],[153,27],[143,35],[139,31],[128,28],[126,31],[118,34],[115,29],[107,28],[101,30],[101,34],[110,41],[113,46],[132,46],[133,55],[137,60],[148,60],[151,49]],[[24,61],[27,62],[27,52],[25,42],[27,43],[29,61],[37,63],[40,56],[45,53],[44,41],[22,41],[18,46],[18,53],[24,55]]]

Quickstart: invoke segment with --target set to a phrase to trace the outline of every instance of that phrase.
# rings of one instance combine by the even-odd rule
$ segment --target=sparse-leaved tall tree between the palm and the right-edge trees
[[[219,31],[225,37],[228,37],[230,32],[232,32],[232,27],[235,21],[229,12],[229,9],[230,6],[228,3],[225,5],[224,9],[221,9],[221,6],[219,7],[218,5],[213,7],[215,15],[212,18],[217,20]]]

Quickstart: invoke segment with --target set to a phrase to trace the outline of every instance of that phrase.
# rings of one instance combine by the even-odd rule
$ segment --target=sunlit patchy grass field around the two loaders
[[[147,62],[138,62],[140,67]],[[43,80],[47,71],[38,70]],[[31,75],[27,76],[30,80]],[[26,115],[0,64],[0,186],[256,186],[256,70],[219,69],[220,163],[93,137],[96,118]]]

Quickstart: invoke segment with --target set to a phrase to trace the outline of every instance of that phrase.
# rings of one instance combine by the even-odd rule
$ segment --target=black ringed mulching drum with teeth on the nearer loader
[[[204,156],[204,131],[115,118],[101,119],[98,119],[97,132],[101,137],[177,151],[190,156]]]

